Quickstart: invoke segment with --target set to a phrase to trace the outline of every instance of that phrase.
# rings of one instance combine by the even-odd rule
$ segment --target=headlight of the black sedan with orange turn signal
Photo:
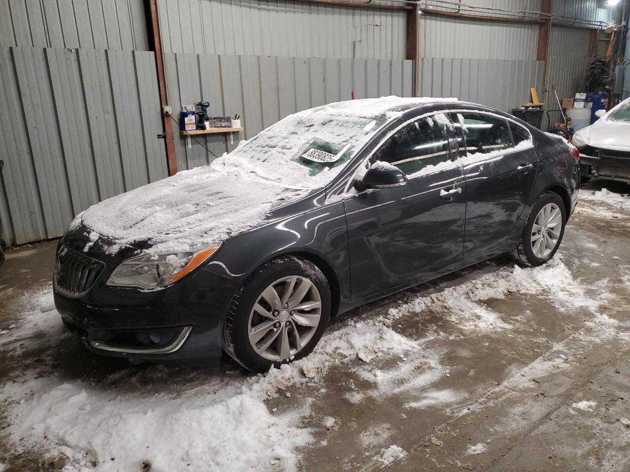
[[[108,285],[130,288],[161,288],[181,279],[206,261],[219,245],[196,252],[140,254],[123,261],[113,271]]]

